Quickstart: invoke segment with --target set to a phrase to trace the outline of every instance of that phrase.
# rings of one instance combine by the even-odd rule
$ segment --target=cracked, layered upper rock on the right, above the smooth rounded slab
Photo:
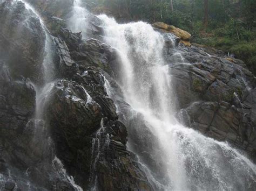
[[[200,100],[231,103],[234,93],[244,100],[248,87],[253,86],[252,73],[241,65],[217,55],[207,55],[202,47],[178,48],[184,60],[190,62],[170,65],[181,108]]]

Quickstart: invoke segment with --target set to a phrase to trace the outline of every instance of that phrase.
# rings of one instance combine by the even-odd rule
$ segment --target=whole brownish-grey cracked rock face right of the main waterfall
[[[185,125],[228,141],[255,160],[255,80],[241,60],[207,47],[178,47],[183,61],[171,65]],[[170,52],[169,52],[170,53]],[[211,54],[211,55],[210,55]],[[167,59],[174,59],[168,54]],[[185,63],[184,63],[185,62]],[[253,99],[254,97],[254,99]]]

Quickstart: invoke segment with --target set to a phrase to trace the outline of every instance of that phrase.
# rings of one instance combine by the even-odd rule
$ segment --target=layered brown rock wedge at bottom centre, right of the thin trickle
[[[98,154],[95,158],[96,165],[92,167],[95,167],[97,173],[92,174],[92,180],[98,180],[97,189],[152,190],[137,161],[131,157],[132,154],[126,150],[122,140],[117,139],[116,131],[113,131],[118,128],[117,123],[111,124],[111,121],[103,119],[102,126],[97,132],[98,137],[95,139],[98,143],[95,147]],[[118,122],[118,125],[120,124],[121,122]],[[119,133],[122,134],[122,131]],[[126,131],[123,133],[121,137],[126,137]],[[100,140],[97,140],[99,137]]]

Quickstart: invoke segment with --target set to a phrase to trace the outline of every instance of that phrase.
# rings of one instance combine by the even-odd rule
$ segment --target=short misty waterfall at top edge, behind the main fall
[[[83,6],[82,0],[75,0],[72,10],[72,16],[68,20],[68,27],[73,32],[82,32],[82,36],[86,37],[87,27],[87,10]]]

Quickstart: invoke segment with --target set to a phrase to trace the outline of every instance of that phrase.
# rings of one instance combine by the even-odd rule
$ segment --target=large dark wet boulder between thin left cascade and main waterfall
[[[57,155],[84,189],[97,185],[100,190],[150,190],[146,175],[126,149],[126,127],[116,121],[113,101],[104,88],[91,90],[90,83],[97,87],[97,81],[90,72],[78,80],[82,84],[60,80],[52,89],[46,118]]]

